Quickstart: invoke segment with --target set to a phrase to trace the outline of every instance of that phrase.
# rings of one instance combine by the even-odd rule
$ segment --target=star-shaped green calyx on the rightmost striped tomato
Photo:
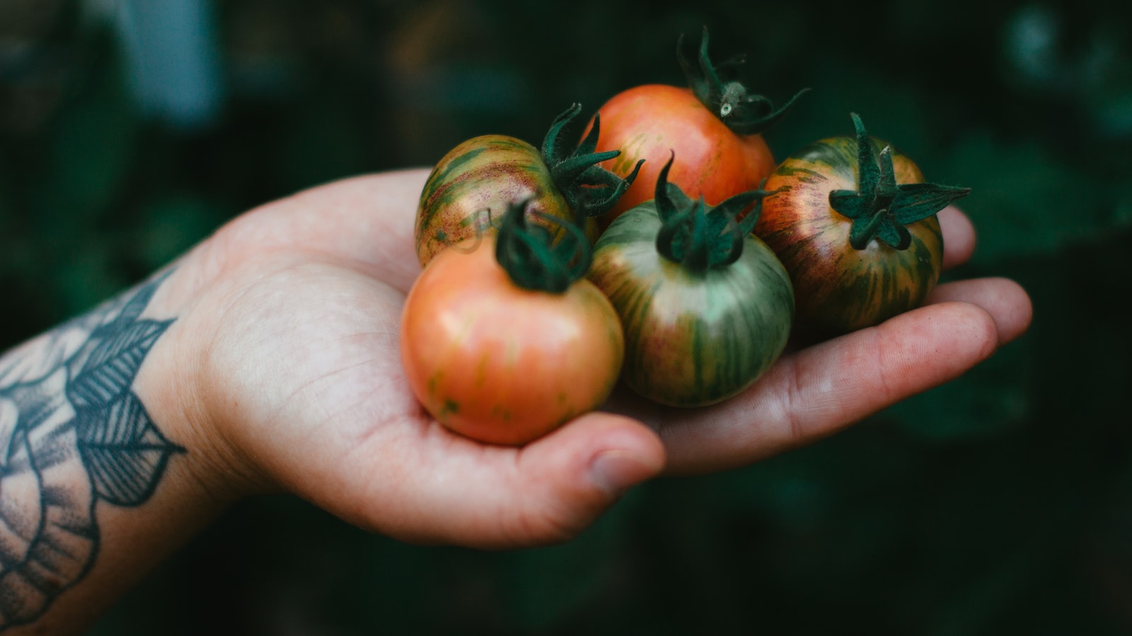
[[[865,124],[850,113],[857,129],[857,190],[830,192],[830,207],[852,220],[849,244],[865,249],[876,239],[898,250],[908,249],[911,234],[906,225],[923,221],[967,196],[970,188],[936,183],[897,184],[892,147],[876,154]]]

